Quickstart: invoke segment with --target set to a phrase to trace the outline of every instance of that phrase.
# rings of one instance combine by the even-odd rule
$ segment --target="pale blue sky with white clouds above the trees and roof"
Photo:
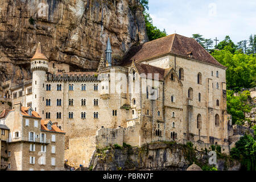
[[[234,43],[256,34],[255,0],[149,0],[153,23],[167,34],[223,40]],[[215,44],[215,42],[214,42]]]

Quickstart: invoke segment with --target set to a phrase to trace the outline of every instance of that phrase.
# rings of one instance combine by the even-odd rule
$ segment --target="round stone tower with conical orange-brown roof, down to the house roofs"
[[[38,43],[35,55],[30,61],[32,72],[32,108],[44,119],[46,110],[46,72],[48,71],[48,59],[41,51]]]

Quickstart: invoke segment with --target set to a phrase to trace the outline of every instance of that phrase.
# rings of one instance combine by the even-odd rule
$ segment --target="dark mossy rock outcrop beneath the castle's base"
[[[142,147],[112,146],[98,149],[94,154],[89,170],[173,170],[185,171],[195,162],[200,167],[208,166],[209,156],[197,151],[193,146],[175,142],[156,142]],[[237,171],[241,164],[228,155],[217,153],[218,170]],[[84,168],[86,170],[86,168]]]

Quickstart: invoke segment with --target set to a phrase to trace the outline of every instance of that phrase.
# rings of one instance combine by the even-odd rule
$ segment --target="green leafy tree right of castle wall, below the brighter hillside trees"
[[[245,113],[251,111],[251,106],[247,104],[250,98],[249,91],[243,91],[234,96],[234,91],[227,90],[226,93],[226,107],[229,114],[232,115],[232,124],[243,125],[245,121],[250,123],[249,119],[245,119]]]

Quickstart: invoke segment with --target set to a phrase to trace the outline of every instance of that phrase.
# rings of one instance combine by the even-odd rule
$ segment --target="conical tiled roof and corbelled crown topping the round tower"
[[[41,52],[41,44],[38,43],[38,48],[36,48],[35,55],[32,57],[30,61],[30,69],[31,71],[41,70],[48,71],[49,62],[47,57]]]

